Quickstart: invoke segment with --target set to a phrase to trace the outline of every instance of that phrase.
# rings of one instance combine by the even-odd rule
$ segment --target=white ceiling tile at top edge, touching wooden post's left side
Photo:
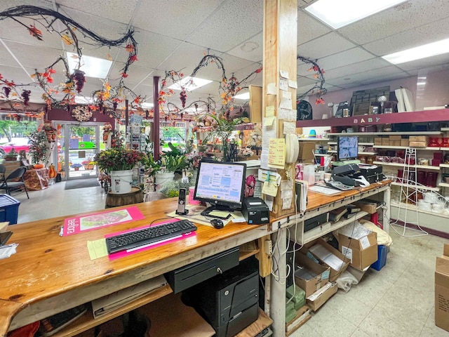
[[[229,0],[218,8],[187,41],[217,51],[229,51],[263,29],[260,0]]]

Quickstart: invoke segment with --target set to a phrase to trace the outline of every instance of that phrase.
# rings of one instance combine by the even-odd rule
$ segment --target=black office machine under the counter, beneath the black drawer
[[[259,315],[259,265],[247,258],[237,267],[183,291],[182,299],[215,329],[217,337],[231,337]]]

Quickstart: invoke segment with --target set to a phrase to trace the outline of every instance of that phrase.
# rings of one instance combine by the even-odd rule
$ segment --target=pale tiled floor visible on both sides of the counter
[[[64,190],[64,186],[56,183],[30,192],[30,199],[13,195],[21,202],[18,223],[105,208],[100,187]],[[449,240],[432,235],[401,237],[394,230],[390,235],[393,244],[387,265],[380,272],[368,270],[349,292],[339,289],[291,336],[449,336],[434,324],[435,258]]]

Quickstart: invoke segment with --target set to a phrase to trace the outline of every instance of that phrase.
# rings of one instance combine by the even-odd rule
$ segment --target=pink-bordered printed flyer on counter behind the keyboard
[[[142,220],[143,218],[145,217],[136,206],[93,213],[86,216],[75,216],[74,218],[65,219],[62,236],[67,237],[67,235],[95,230],[98,227],[128,223],[129,221]]]

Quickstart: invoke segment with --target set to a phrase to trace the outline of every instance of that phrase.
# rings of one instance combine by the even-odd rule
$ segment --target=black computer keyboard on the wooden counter
[[[106,247],[109,254],[128,249],[138,248],[154,242],[161,242],[181,234],[196,230],[196,226],[189,220],[179,220],[174,223],[163,223],[135,230],[115,237],[106,238]]]

